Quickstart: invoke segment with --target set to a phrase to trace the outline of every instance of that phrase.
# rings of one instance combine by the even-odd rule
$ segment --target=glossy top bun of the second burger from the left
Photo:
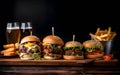
[[[59,36],[55,35],[48,35],[43,39],[43,43],[53,43],[53,44],[59,44],[61,46],[64,45],[63,40]]]

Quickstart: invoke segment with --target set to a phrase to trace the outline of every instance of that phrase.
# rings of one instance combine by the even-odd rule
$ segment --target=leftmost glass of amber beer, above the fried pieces
[[[7,43],[19,43],[20,42],[20,27],[18,22],[7,23],[6,27],[6,39]]]

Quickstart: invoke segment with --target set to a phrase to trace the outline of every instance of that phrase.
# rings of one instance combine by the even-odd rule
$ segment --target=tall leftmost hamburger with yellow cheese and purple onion
[[[37,36],[29,35],[21,39],[19,46],[19,56],[21,59],[41,59],[41,41]]]

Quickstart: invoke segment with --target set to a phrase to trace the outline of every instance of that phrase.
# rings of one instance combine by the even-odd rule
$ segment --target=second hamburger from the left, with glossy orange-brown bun
[[[61,59],[64,41],[55,35],[48,35],[43,38],[43,58],[47,60]]]

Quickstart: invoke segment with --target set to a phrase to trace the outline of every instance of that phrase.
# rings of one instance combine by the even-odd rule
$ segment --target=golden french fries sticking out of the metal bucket
[[[114,37],[117,35],[116,32],[111,31],[111,27],[108,27],[108,29],[101,30],[99,27],[97,28],[95,34],[89,33],[92,39],[98,40],[98,41],[109,41],[113,40]]]

